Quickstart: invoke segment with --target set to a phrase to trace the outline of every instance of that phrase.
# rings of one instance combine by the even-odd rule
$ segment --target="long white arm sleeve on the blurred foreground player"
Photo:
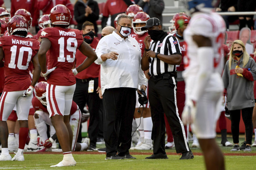
[[[206,83],[213,72],[213,55],[214,50],[212,47],[198,48],[199,70],[195,77],[195,82],[197,83],[191,91],[191,100],[198,101],[206,87]]]

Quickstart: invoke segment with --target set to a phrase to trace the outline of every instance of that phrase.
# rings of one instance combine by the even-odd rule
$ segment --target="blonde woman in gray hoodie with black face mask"
[[[222,80],[225,88],[224,94],[227,95],[226,103],[230,112],[231,132],[235,144],[231,151],[240,151],[238,143],[241,111],[246,133],[244,151],[251,151],[256,63],[246,52],[245,45],[241,40],[235,40],[231,45],[229,60],[226,62]]]

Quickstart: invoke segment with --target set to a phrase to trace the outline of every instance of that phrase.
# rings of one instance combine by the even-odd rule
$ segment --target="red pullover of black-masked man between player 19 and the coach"
[[[93,42],[90,44],[91,48],[95,51],[97,45],[99,43],[99,39],[94,37]],[[78,67],[82,62],[86,59],[86,56],[83,55],[79,50],[75,54],[76,67]],[[75,77],[78,79],[88,79],[88,78],[97,78],[99,77],[99,68],[101,66],[95,64],[94,62],[85,70],[78,73]]]

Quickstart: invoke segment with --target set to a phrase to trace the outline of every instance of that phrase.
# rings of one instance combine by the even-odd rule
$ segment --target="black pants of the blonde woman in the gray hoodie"
[[[231,133],[234,143],[239,143],[239,123],[242,111],[242,118],[245,124],[246,144],[251,145],[253,138],[253,107],[229,111],[231,119]]]

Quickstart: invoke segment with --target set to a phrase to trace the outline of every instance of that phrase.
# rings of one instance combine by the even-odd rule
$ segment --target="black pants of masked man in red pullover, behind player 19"
[[[96,147],[97,135],[98,135],[98,127],[99,127],[99,109],[102,107],[100,102],[102,100],[99,98],[99,95],[96,92],[98,87],[98,78],[93,78],[94,80],[94,91],[93,93],[88,93],[89,80],[87,82],[82,82],[81,79],[76,79],[76,87],[73,96],[74,102],[78,105],[81,112],[83,112],[83,108],[87,103],[90,113],[90,122],[88,127],[88,136],[90,138],[90,146]],[[103,122],[101,122],[103,123]],[[81,143],[81,126],[78,136],[78,142]]]

